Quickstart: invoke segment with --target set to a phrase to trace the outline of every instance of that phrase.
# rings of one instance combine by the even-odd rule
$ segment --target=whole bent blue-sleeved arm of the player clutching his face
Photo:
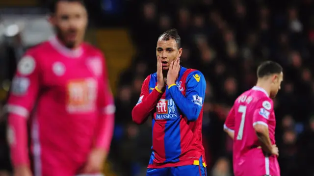
[[[196,77],[195,77],[196,75]],[[183,96],[176,84],[168,87],[171,98],[188,121],[196,121],[203,107],[206,80],[199,72],[192,72],[186,78],[186,94]]]

